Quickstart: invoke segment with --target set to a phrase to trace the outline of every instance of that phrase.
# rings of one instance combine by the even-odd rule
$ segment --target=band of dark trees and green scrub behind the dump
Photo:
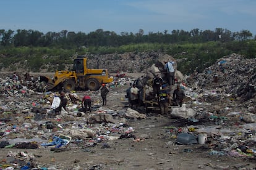
[[[202,71],[216,60],[231,53],[255,58],[256,38],[247,30],[232,33],[215,31],[173,30],[164,33],[121,33],[98,29],[91,33],[61,31],[46,34],[33,30],[0,30],[0,69],[17,70],[19,63],[28,71],[63,70],[72,56],[85,54],[123,54],[124,52],[161,51],[179,59],[178,70],[190,74]],[[152,61],[153,62],[153,61]],[[150,63],[148,63],[150,64]],[[20,66],[19,65],[19,66]]]

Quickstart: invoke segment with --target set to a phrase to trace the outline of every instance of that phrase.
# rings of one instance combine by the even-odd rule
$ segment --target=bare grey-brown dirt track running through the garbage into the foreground
[[[140,75],[138,75],[140,76]],[[127,100],[121,100],[129,87],[110,89],[106,110],[122,110]],[[80,96],[83,92],[77,92]],[[111,97],[110,97],[111,96]],[[96,100],[100,100],[98,95]],[[143,107],[139,108],[143,113]],[[88,114],[88,113],[87,113]],[[119,119],[116,117],[116,119]],[[77,118],[79,121],[79,118]],[[202,123],[203,124],[203,123]],[[4,164],[7,153],[27,152],[35,155],[35,164],[48,169],[255,169],[255,159],[209,155],[210,147],[205,145],[179,145],[166,127],[186,127],[181,119],[169,118],[157,113],[147,114],[145,119],[127,119],[127,125],[134,129],[135,138],[101,140],[95,146],[85,141],[73,141],[67,148],[51,150],[1,148],[0,160]],[[92,124],[98,126],[98,124]],[[113,132],[111,136],[121,136]],[[138,140],[134,140],[138,139]],[[209,140],[211,140],[209,138]]]

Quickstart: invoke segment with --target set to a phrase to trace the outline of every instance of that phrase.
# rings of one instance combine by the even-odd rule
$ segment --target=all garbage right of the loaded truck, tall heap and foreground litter
[[[205,135],[203,144],[210,155],[255,158],[255,70],[255,59],[232,54],[187,77],[184,89],[189,100],[171,113],[186,119],[187,126],[180,131],[166,127],[168,134],[183,145],[196,144]]]

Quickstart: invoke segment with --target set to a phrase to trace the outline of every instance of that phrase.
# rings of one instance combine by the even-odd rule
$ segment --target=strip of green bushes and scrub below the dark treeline
[[[45,64],[51,65],[48,71],[64,70],[65,65],[73,63],[75,55],[87,55],[93,58],[100,54],[115,54],[115,60],[119,59],[119,54],[124,52],[148,52],[148,51],[163,51],[165,54],[172,55],[176,59],[181,59],[182,62],[178,65],[178,70],[184,74],[190,74],[194,70],[203,71],[225,55],[232,53],[245,55],[247,58],[255,58],[256,55],[256,40],[248,41],[229,41],[218,42],[208,41],[205,43],[188,43],[182,42],[180,44],[163,44],[163,43],[140,43],[127,44],[119,47],[87,47],[77,48],[70,46],[69,49],[62,49],[57,47],[4,47],[0,49],[0,63],[1,68],[8,68],[11,70],[17,69],[14,64],[20,63],[25,65],[31,71],[39,71],[40,67]],[[186,59],[186,60],[182,60]],[[27,62],[25,62],[27,60]],[[148,62],[152,65],[154,61]],[[140,67],[143,70],[144,67]],[[129,70],[132,72],[132,68]]]

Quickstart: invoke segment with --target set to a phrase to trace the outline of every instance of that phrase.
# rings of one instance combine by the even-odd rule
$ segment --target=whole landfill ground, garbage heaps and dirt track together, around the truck
[[[67,110],[56,115],[51,105],[59,92],[39,92],[36,76],[2,76],[0,168],[256,168],[255,59],[232,54],[184,76],[186,100],[169,115],[128,107],[126,89],[135,78],[108,84],[104,107],[100,91],[66,92]],[[81,108],[85,93],[92,113]]]

